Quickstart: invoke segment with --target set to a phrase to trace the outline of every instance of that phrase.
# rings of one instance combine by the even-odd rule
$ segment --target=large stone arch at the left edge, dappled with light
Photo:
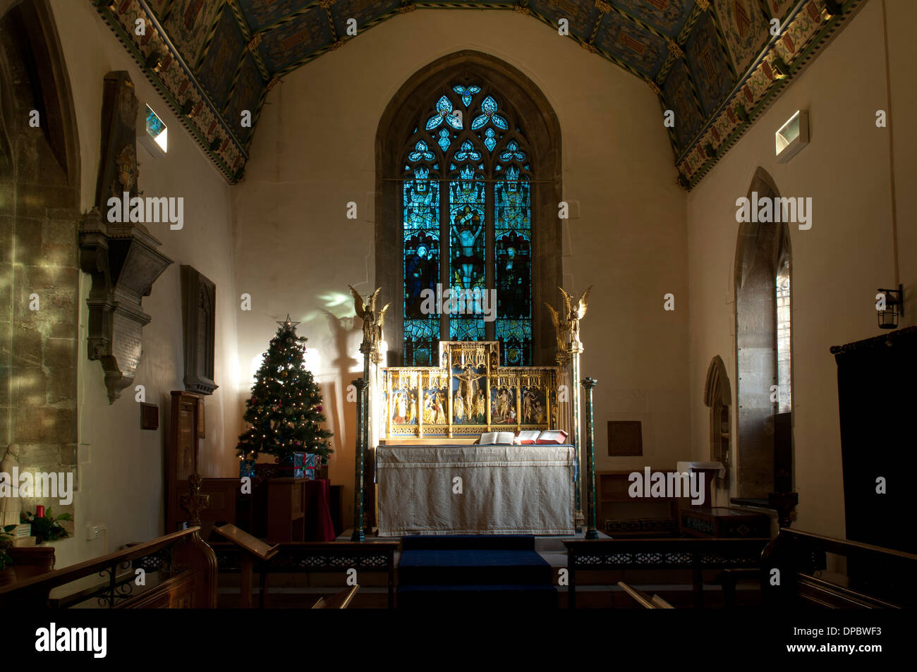
[[[80,151],[48,0],[0,5],[0,99],[0,454],[75,471]]]

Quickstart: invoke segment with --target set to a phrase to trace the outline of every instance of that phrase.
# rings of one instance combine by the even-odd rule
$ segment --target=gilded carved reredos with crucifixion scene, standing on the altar
[[[381,438],[554,428],[557,367],[501,367],[499,341],[442,341],[438,368],[382,369]]]

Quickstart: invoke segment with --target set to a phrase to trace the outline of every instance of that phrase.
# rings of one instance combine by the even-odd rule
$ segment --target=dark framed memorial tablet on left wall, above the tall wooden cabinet
[[[191,266],[182,266],[184,389],[213,394],[216,285]]]

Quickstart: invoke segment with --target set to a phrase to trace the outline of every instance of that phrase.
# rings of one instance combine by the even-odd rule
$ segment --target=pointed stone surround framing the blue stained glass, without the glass
[[[399,194],[393,180],[401,175],[401,149],[430,96],[455,77],[473,76],[499,89],[516,118],[525,119],[525,136],[532,153],[535,187],[532,192],[532,308],[533,359],[536,365],[555,364],[556,339],[544,302],[556,303],[562,283],[561,226],[558,203],[561,184],[560,124],[547,97],[525,73],[490,54],[462,50],[421,68],[392,96],[376,133],[376,282],[385,301],[389,363],[401,362],[403,270]]]

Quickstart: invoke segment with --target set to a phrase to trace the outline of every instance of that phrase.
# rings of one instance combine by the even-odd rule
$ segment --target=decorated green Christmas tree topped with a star
[[[326,457],[331,453],[322,429],[322,392],[312,373],[303,365],[305,337],[296,336],[296,325],[290,315],[271,339],[261,368],[251,386],[251,399],[245,402],[242,416],[251,425],[238,437],[239,457],[258,457],[268,453],[289,463],[293,453],[313,453]]]

